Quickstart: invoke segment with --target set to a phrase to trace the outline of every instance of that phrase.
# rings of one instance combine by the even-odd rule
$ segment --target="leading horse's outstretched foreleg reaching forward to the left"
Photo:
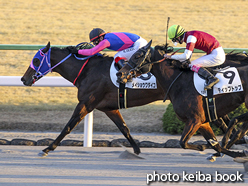
[[[62,139],[68,135],[79,123],[80,121],[91,111],[88,111],[83,102],[79,102],[77,107],[74,110],[74,113],[66,124],[64,129],[61,131],[60,135],[44,150],[39,153],[40,156],[47,156],[49,151],[53,151]]]

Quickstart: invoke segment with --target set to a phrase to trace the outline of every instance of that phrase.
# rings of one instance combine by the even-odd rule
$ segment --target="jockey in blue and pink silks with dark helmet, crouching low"
[[[124,62],[129,60],[131,56],[141,47],[147,44],[142,37],[127,32],[111,32],[106,33],[101,28],[94,28],[90,34],[90,41],[95,47],[91,49],[74,50],[72,53],[78,53],[84,56],[94,55],[105,48],[118,51],[115,56],[115,62],[122,67]]]

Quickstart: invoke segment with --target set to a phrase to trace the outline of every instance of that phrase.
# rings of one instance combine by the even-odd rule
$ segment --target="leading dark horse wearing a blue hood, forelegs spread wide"
[[[94,109],[104,112],[130,142],[134,153],[139,154],[140,148],[130,135],[130,131],[119,112],[118,88],[110,80],[109,73],[113,57],[93,56],[88,61],[81,61],[74,56],[70,56],[71,50],[72,47],[63,49],[50,48],[49,42],[44,49],[37,52],[31,64],[32,68],[29,67],[21,78],[24,85],[32,86],[35,81],[51,71],[49,68],[45,69],[47,60],[50,61],[52,71],[59,73],[70,82],[74,82],[78,88],[79,103],[71,119],[55,141],[45,148],[40,155],[46,156],[49,151],[54,150],[61,140]],[[42,70],[42,73],[37,73]],[[128,107],[145,105],[153,101],[162,100],[164,97],[164,92],[160,85],[157,86],[157,89],[127,89],[126,94]]]

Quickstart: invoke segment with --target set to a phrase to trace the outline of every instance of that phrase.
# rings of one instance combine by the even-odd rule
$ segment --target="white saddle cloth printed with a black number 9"
[[[213,95],[243,91],[240,76],[235,67],[220,70],[216,77],[220,81],[214,85]],[[194,84],[199,94],[207,96],[207,91],[204,90],[205,79],[202,79],[196,72],[194,73]]]

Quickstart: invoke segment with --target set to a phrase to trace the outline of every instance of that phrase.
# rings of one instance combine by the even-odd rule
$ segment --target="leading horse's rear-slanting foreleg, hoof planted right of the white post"
[[[116,126],[119,128],[119,130],[122,132],[122,134],[127,138],[131,146],[133,147],[134,153],[139,154],[140,148],[133,140],[130,130],[127,127],[123,117],[121,116],[121,113],[119,110],[112,110],[112,111],[106,111],[106,115],[116,124]]]

